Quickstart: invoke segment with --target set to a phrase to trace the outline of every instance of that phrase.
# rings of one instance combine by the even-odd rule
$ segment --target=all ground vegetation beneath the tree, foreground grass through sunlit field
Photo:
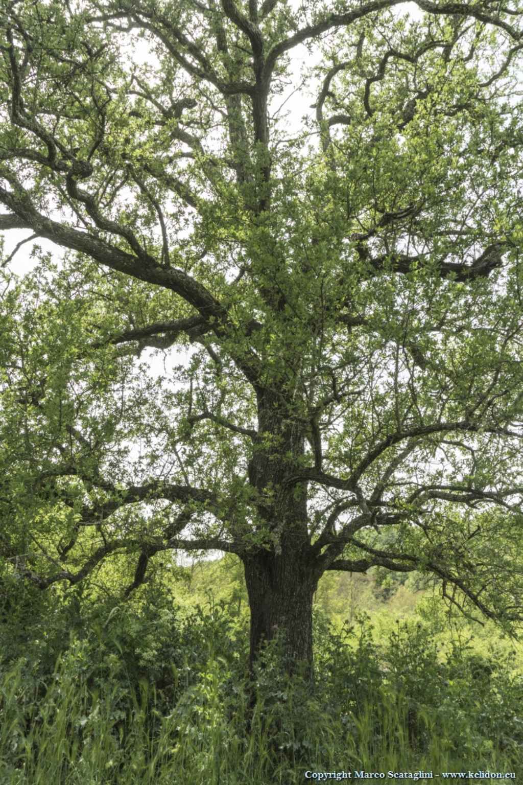
[[[18,587],[0,647],[0,781],[521,775],[521,645],[492,627],[451,623],[417,577],[321,582],[313,687],[285,673],[277,640],[249,674],[247,595],[231,557],[180,568],[124,603],[107,591],[110,575],[104,593],[74,589],[60,601]]]

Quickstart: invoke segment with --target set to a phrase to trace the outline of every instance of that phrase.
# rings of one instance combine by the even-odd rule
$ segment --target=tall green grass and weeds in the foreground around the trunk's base
[[[173,663],[172,683],[160,687],[107,651],[105,669],[84,667],[71,645],[45,679],[20,657],[0,674],[0,783],[292,785],[307,769],[523,774],[521,678],[496,681],[484,668],[474,682],[467,652],[443,666],[419,627],[395,634],[388,670],[364,624],[347,631],[352,647],[330,637],[314,686],[279,670],[276,647],[249,681],[212,636],[198,669]]]

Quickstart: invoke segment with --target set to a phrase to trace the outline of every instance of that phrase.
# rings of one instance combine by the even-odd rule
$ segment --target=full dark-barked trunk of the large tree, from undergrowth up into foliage
[[[307,526],[307,485],[289,483],[304,452],[300,425],[280,411],[278,396],[258,396],[258,430],[267,444],[256,445],[249,481],[258,491],[263,548],[242,555],[251,612],[250,668],[260,650],[278,637],[289,674],[304,668],[312,676],[312,598],[318,565],[311,555]]]

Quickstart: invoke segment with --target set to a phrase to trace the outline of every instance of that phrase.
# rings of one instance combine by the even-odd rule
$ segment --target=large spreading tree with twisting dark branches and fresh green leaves
[[[521,620],[522,14],[2,0],[5,569],[236,553],[291,670],[326,570]]]

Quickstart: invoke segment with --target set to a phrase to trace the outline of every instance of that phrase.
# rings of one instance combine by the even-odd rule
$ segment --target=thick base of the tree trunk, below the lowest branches
[[[312,599],[318,578],[300,553],[246,556],[245,582],[251,611],[250,668],[264,644],[278,637],[288,674],[312,677]]]

